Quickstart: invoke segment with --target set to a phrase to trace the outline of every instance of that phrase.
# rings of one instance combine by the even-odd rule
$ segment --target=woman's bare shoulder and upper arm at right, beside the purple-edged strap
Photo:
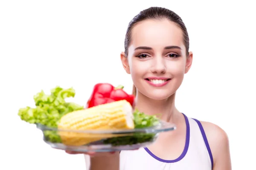
[[[231,170],[230,148],[227,133],[217,125],[201,122],[213,157],[213,170]]]

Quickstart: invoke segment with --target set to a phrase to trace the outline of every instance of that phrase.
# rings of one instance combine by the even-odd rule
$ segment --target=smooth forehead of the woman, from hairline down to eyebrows
[[[169,20],[145,20],[137,23],[131,33],[131,46],[148,46],[151,48],[163,48],[169,45],[177,45],[182,49],[183,32],[175,23]]]

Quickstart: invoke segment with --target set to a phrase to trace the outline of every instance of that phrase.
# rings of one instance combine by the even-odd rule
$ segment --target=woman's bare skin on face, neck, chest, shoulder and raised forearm
[[[142,46],[151,49],[140,48]],[[170,46],[172,48],[166,48]],[[161,133],[158,140],[148,147],[149,150],[161,159],[176,159],[185,145],[186,123],[183,114],[175,107],[175,95],[193,59],[192,52],[186,55],[182,31],[169,20],[142,21],[133,28],[128,56],[122,52],[120,58],[137,87],[136,108],[149,115],[161,113],[160,119],[177,126],[175,131]],[[145,80],[148,77],[171,80],[159,88],[150,85]],[[227,134],[215,124],[201,123],[212,151],[213,170],[231,170]],[[119,153],[84,154],[93,156],[90,158],[90,170],[119,170]]]

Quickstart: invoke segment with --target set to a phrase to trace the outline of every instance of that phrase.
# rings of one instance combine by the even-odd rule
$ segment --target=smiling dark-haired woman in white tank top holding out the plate
[[[147,114],[162,113],[161,119],[174,123],[177,129],[161,133],[146,148],[86,153],[93,155],[91,170],[231,170],[224,130],[191,119],[175,108],[175,93],[192,59],[186,27],[173,11],[151,7],[131,20],[121,60],[134,82],[136,107]]]

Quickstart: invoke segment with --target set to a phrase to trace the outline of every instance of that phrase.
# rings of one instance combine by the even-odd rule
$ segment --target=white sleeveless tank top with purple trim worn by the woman
[[[123,150],[120,153],[120,170],[212,170],[212,153],[201,122],[183,115],[186,121],[186,142],[177,159],[160,159],[147,147]]]

